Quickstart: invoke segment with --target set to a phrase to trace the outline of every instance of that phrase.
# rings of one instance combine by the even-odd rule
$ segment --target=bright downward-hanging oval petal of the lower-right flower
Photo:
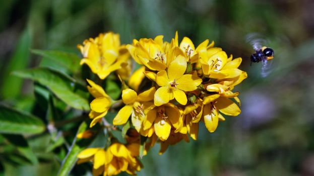
[[[211,106],[205,105],[203,109],[204,123],[209,132],[214,132],[218,126],[217,111],[213,110]]]

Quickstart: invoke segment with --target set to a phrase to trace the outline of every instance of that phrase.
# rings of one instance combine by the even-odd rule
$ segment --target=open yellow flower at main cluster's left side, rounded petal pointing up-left
[[[125,104],[123,108],[119,110],[117,115],[113,119],[113,125],[123,125],[127,123],[129,117],[133,114],[132,123],[139,131],[141,128],[141,122],[145,118],[145,111],[148,107],[151,107],[153,103],[150,101],[154,99],[155,87],[144,91],[137,95],[132,89],[125,89],[122,91],[122,101]],[[140,121],[140,124],[137,122]]]

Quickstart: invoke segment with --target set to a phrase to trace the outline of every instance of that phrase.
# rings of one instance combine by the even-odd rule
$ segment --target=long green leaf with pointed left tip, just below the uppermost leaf
[[[79,86],[77,81],[64,73],[49,68],[34,68],[15,71],[14,74],[47,86],[60,100],[73,108],[89,110],[88,101],[75,93],[76,86]]]

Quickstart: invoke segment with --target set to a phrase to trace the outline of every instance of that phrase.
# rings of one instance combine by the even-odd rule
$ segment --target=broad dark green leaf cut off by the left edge
[[[38,134],[43,131],[45,125],[38,117],[0,105],[0,133]]]

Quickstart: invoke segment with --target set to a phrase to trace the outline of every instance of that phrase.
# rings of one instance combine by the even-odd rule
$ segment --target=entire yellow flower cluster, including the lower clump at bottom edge
[[[246,72],[238,69],[242,59],[233,59],[232,55],[228,57],[226,52],[214,47],[214,42],[209,43],[209,40],[195,47],[191,39],[184,37],[179,44],[176,32],[170,43],[163,41],[160,35],[154,39],[134,39],[133,44],[120,46],[117,34],[106,33],[84,41],[84,46],[79,45],[79,48],[84,56],[81,64],[86,63],[100,79],[115,70],[115,74],[123,74],[119,76],[126,81],[121,80],[123,106],[112,124],[119,126],[131,121],[130,130],[135,129],[138,135],[145,137],[147,146],[153,146],[156,141],[161,143],[160,154],[182,139],[189,141],[188,134],[197,140],[200,122],[205,124],[209,132],[214,132],[218,122],[225,120],[222,114],[237,116],[241,112],[238,107],[239,93],[232,90],[247,77]],[[130,56],[141,65],[132,74],[128,69],[132,63]],[[113,109],[114,101],[100,85],[89,79],[87,81],[88,90],[95,98],[90,104],[92,127],[101,121],[109,109]],[[112,145],[115,147],[117,144]],[[106,152],[114,153],[112,145]],[[148,150],[147,146],[145,149]],[[122,148],[124,153],[129,150],[128,147]],[[82,154],[79,158],[90,158],[100,151],[102,155],[106,153],[103,149],[87,150],[92,150],[83,151],[89,153],[88,157],[82,157]],[[133,171],[140,169],[135,164],[138,162],[131,161],[131,155],[118,156],[120,158],[114,162],[119,161],[121,167],[114,170],[107,159],[97,161],[95,154],[94,169],[105,165],[102,167],[105,175],[128,171],[128,166]]]

